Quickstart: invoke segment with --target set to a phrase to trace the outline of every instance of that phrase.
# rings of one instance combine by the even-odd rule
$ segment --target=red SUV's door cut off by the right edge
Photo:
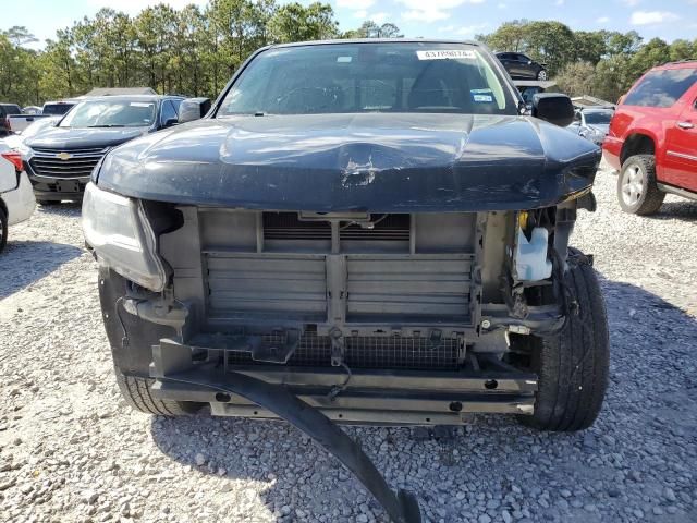
[[[686,94],[688,104],[665,132],[665,183],[697,193],[697,84]]]

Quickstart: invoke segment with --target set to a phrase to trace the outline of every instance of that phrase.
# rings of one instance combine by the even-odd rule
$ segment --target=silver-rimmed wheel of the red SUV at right
[[[625,212],[652,215],[663,203],[665,193],[656,186],[656,158],[635,155],[622,165],[617,177],[617,199]]]

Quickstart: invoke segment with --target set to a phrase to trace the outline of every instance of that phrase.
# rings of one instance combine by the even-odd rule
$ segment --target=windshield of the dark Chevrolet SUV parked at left
[[[146,127],[155,121],[155,101],[91,100],[75,106],[61,127]]]

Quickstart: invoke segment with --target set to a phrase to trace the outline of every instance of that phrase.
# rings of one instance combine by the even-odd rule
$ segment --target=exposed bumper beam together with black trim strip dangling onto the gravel
[[[154,346],[154,394],[207,402],[217,415],[279,417],[313,438],[355,474],[396,523],[420,523],[416,497],[394,492],[384,477],[338,425],[460,424],[465,414],[531,414],[537,379],[506,365],[476,372],[236,366],[225,358],[193,358],[191,346],[161,340]],[[209,356],[220,352],[208,351]]]

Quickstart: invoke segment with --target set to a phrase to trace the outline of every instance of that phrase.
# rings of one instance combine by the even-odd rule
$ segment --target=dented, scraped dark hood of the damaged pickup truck
[[[554,205],[598,147],[527,117],[362,113],[206,119],[105,158],[100,187],[249,209],[412,212]]]

